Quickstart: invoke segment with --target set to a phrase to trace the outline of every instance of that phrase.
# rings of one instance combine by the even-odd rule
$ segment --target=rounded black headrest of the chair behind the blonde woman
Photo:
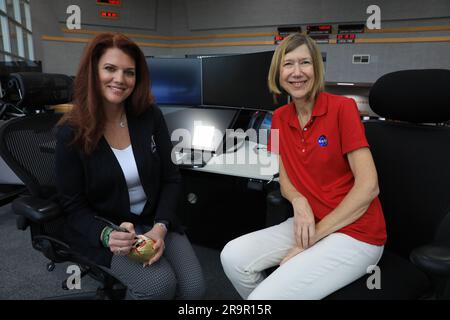
[[[369,104],[379,116],[416,123],[450,120],[450,70],[402,70],[379,78]]]

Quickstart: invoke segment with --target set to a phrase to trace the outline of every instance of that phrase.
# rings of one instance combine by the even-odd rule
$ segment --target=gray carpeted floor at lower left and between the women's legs
[[[202,264],[208,300],[240,299],[222,271],[218,250],[194,244]],[[70,263],[58,264],[52,272],[46,270],[48,260],[31,246],[29,230],[16,229],[15,215],[9,205],[0,207],[0,300],[36,300],[70,294],[61,284],[69,274]],[[97,282],[90,277],[81,281],[81,290],[94,291]]]

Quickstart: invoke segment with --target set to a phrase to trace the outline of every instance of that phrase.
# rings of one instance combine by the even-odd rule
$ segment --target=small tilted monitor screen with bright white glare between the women
[[[161,106],[174,146],[216,153],[238,110]]]

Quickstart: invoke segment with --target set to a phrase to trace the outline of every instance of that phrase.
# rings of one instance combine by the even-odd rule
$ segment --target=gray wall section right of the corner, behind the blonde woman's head
[[[211,33],[273,32],[278,26],[365,23],[366,8],[381,8],[381,27],[450,25],[450,1],[433,0],[172,0],[173,30],[180,35]],[[450,36],[450,31],[420,33],[358,34],[357,38]],[[252,40],[270,40],[270,37]],[[245,41],[238,38],[233,41]],[[216,41],[223,41],[222,39]],[[196,41],[201,42],[201,41]],[[450,42],[321,44],[327,55],[326,80],[374,82],[388,72],[414,68],[450,69]],[[274,50],[275,46],[207,47],[172,50],[172,54],[247,53]],[[353,64],[354,54],[370,54],[368,65]]]

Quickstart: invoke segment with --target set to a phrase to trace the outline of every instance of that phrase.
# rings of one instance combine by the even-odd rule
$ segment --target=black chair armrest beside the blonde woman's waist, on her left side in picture
[[[293,215],[291,203],[281,195],[279,189],[273,190],[267,194],[266,204],[267,227],[279,224]]]

